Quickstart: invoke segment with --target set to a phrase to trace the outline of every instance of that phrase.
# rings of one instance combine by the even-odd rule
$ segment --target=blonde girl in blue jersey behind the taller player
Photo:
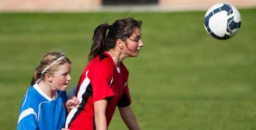
[[[71,64],[58,52],[42,57],[20,106],[18,130],[67,130],[66,113],[80,105],[76,97],[67,99]]]

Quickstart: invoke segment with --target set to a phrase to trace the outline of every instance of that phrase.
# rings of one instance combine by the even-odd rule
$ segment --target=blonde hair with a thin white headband
[[[38,79],[44,80],[46,73],[53,75],[54,72],[58,70],[58,67],[65,63],[72,64],[65,54],[55,51],[46,53],[42,57],[40,64],[35,68],[31,86],[33,86]]]

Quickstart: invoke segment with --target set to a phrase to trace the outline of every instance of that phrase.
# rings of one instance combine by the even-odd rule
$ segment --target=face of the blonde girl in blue
[[[58,67],[58,71],[52,75],[52,88],[59,91],[66,91],[67,85],[71,80],[70,71],[71,65],[65,63]]]

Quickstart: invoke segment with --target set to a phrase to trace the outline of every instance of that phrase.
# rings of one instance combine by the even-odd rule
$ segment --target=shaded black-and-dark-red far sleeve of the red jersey
[[[125,91],[123,91],[123,95],[118,102],[118,107],[126,107],[131,104],[130,92],[128,86],[125,87]]]

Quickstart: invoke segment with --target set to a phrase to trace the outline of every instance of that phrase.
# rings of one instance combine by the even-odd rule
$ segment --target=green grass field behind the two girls
[[[205,12],[131,12],[143,21],[144,47],[124,60],[141,129],[256,129],[256,9],[240,9],[240,32],[216,40]],[[47,51],[73,61],[72,83],[87,63],[94,28],[120,13],[0,13],[1,129],[16,129],[34,68]],[[116,111],[109,129],[127,129]]]

